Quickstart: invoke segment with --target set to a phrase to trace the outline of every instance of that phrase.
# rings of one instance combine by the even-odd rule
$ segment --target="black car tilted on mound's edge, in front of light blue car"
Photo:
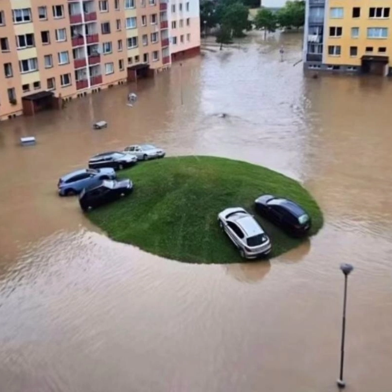
[[[79,196],[79,204],[83,211],[88,211],[129,195],[132,190],[133,184],[129,179],[121,181],[105,180],[98,186],[83,189]]]

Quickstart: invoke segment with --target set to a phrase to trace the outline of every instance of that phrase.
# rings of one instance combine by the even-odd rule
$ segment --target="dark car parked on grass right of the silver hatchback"
[[[263,195],[255,200],[256,211],[293,236],[305,235],[312,226],[310,216],[289,199]]]

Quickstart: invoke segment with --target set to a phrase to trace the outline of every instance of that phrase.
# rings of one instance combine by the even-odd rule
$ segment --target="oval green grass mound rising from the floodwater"
[[[254,213],[271,237],[270,257],[299,245],[303,239],[255,214],[257,196],[272,194],[298,202],[312,217],[311,235],[322,226],[319,206],[291,178],[249,163],[208,156],[170,157],[143,162],[119,172],[130,178],[134,192],[91,211],[88,217],[115,241],[187,263],[244,261],[218,226],[218,213],[244,207]]]

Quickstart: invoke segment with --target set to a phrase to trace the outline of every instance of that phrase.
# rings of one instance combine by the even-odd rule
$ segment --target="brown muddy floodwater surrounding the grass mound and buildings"
[[[297,35],[250,36],[186,61],[182,77],[174,65],[0,124],[1,392],[335,391],[342,262],[355,266],[346,390],[392,390],[392,84],[305,78],[300,52]],[[109,127],[93,131],[97,120]],[[37,145],[19,147],[26,135]],[[283,257],[243,265],[114,243],[56,183],[93,153],[147,141],[291,175],[325,226]]]

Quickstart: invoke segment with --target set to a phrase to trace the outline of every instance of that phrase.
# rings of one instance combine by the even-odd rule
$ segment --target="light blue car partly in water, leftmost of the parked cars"
[[[115,179],[116,172],[112,168],[82,169],[63,175],[57,184],[60,196],[80,193],[84,188],[99,184],[102,180]]]

